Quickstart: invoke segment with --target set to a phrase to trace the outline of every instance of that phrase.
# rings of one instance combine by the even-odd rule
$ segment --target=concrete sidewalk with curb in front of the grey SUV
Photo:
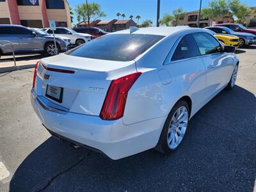
[[[33,68],[36,62],[43,58],[41,54],[23,54],[15,56],[16,66],[12,56],[1,56],[0,58],[0,74],[13,70],[21,70],[25,68]]]

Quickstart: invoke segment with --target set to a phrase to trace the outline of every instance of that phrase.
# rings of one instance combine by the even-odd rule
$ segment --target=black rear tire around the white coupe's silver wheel
[[[166,121],[164,123],[164,127],[163,130],[161,132],[159,141],[155,147],[155,149],[163,154],[170,154],[171,152],[173,152],[174,150],[176,150],[176,148],[178,148],[180,146],[180,144],[182,143],[182,141],[184,140],[184,136],[182,138],[182,140],[180,141],[179,145],[172,149],[168,146],[168,141],[167,141],[167,137],[168,137],[168,129],[172,120],[173,115],[175,114],[175,111],[177,111],[177,109],[179,109],[180,107],[184,106],[187,111],[188,111],[188,120],[189,120],[189,116],[190,116],[190,110],[189,110],[189,106],[187,104],[186,101],[184,100],[179,100],[172,108],[172,110],[170,111],[168,117],[166,118]],[[189,121],[186,127],[186,130],[188,130],[188,125],[189,125]],[[186,134],[186,132],[184,133]]]

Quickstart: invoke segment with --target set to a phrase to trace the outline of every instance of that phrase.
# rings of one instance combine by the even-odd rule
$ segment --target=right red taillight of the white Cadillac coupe
[[[141,72],[136,72],[111,81],[100,111],[100,118],[103,120],[116,120],[124,115],[128,92],[140,75]]]

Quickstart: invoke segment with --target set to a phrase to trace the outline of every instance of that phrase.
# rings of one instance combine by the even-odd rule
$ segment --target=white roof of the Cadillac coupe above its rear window
[[[205,29],[202,28],[188,28],[184,26],[177,27],[149,27],[149,28],[138,28],[137,31],[134,31],[132,34],[147,34],[147,35],[163,35],[170,36],[176,32],[205,32]],[[130,33],[130,29],[125,29],[122,31],[116,31],[112,34],[127,34]]]

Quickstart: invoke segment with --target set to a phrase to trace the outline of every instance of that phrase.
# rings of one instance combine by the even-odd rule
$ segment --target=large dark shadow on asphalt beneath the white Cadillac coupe
[[[147,150],[112,161],[51,137],[20,164],[10,191],[253,191],[255,109],[248,90],[223,90],[170,155]]]

